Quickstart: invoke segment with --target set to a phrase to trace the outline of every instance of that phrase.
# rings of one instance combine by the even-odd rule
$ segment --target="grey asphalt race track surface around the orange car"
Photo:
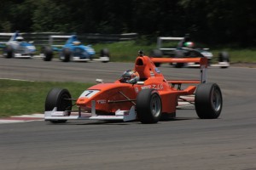
[[[0,77],[30,81],[113,82],[132,63],[62,63],[0,58]],[[197,69],[160,67],[167,79],[198,77]],[[208,69],[222,89],[214,120],[193,108],[157,124],[70,121],[0,124],[0,169],[256,169],[256,69]],[[1,96],[2,97],[2,96]],[[44,104],[42,104],[44,105]]]

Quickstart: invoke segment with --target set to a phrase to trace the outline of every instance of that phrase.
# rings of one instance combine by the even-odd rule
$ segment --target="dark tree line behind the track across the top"
[[[0,32],[137,32],[253,47],[253,0],[0,0]],[[154,39],[155,42],[155,39]]]

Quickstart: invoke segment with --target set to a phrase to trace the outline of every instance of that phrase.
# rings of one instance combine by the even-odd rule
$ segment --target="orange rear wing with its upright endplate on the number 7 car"
[[[151,58],[154,63],[199,63],[200,64],[200,82],[207,82],[208,59],[201,58]],[[187,82],[189,83],[189,82]]]

